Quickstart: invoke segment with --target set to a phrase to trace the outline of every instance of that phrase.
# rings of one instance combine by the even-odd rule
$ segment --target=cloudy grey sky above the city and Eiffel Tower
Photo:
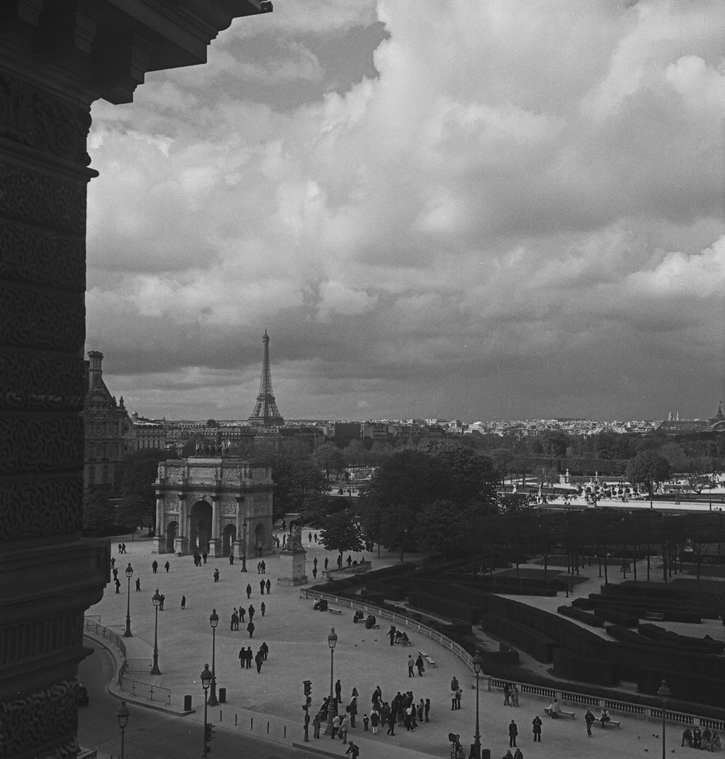
[[[708,417],[720,0],[276,0],[93,106],[87,350],[127,408]]]

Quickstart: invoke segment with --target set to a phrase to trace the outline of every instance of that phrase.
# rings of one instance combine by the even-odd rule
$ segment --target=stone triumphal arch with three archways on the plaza
[[[154,552],[255,556],[271,550],[273,491],[272,468],[242,458],[162,461]]]

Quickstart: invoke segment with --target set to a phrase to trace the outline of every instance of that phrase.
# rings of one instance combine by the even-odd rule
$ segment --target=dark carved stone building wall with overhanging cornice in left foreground
[[[206,60],[264,0],[5,0],[0,10],[0,759],[77,755],[85,610],[109,544],[80,537],[90,105]]]

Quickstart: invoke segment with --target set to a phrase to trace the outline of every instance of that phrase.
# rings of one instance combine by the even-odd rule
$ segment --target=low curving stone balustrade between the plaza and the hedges
[[[380,606],[371,606],[368,603],[358,602],[350,598],[342,596],[336,596],[329,593],[323,593],[322,591],[304,590],[305,598],[324,598],[327,603],[334,603],[336,606],[348,606],[350,609],[361,609],[361,611],[373,614],[376,617],[382,617],[383,619],[389,619],[391,622],[396,622],[397,625],[402,625],[408,629],[412,629],[427,636],[432,641],[440,644],[444,648],[455,654],[468,669],[471,670],[471,675],[474,676],[473,657],[468,653],[465,648],[459,644],[447,638],[443,633],[424,625],[422,622],[416,622],[415,619],[409,619],[402,614],[396,614],[389,611],[389,609],[381,609]],[[639,717],[648,720],[662,721],[662,708],[661,707],[648,707],[645,704],[633,704],[630,701],[623,701],[619,699],[611,698],[598,698],[591,694],[581,693],[579,691],[572,691],[569,689],[549,688],[541,685],[531,685],[527,682],[516,682],[515,680],[504,680],[496,677],[490,677],[487,675],[479,676],[479,682],[481,687],[487,688],[488,691],[500,690],[503,692],[503,686],[506,683],[509,685],[516,685],[522,694],[528,694],[534,698],[541,698],[544,701],[553,701],[554,698],[558,698],[562,704],[569,704],[571,706],[578,706],[582,708],[594,709],[607,709],[610,712],[628,714],[629,716]],[[475,679],[474,679],[475,683]],[[475,687],[475,685],[474,685]],[[725,719],[715,720],[711,717],[698,716],[686,712],[673,711],[670,709],[665,710],[665,720],[670,723],[674,723],[682,726],[699,726],[703,729],[706,727],[711,730],[718,730],[725,732]]]

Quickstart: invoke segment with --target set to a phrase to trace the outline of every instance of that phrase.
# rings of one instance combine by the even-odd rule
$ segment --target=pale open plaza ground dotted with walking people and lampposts
[[[115,594],[111,583],[106,587],[102,601],[88,611],[88,616],[99,616],[102,625],[118,632],[125,627],[127,584],[123,570],[128,562],[134,568],[131,581],[131,630],[133,638],[124,638],[128,647],[128,657],[150,660],[153,652],[154,607],[151,597],[156,587],[165,595],[164,610],[159,612],[159,666],[162,676],[151,677],[146,672],[139,672],[134,677],[142,682],[153,682],[172,691],[172,704],[181,707],[184,695],[193,699],[194,714],[179,717],[183,720],[203,720],[203,691],[199,674],[205,663],[211,664],[212,631],[209,616],[216,608],[219,614],[219,626],[216,629],[216,679],[218,688],[226,689],[226,703],[210,708],[210,721],[216,729],[243,729],[247,723],[254,721],[255,734],[263,732],[263,726],[270,723],[270,732],[282,735],[286,730],[285,742],[301,742],[303,735],[302,703],[303,681],[312,681],[312,709],[320,706],[330,687],[330,651],[327,636],[335,628],[338,642],[334,652],[334,679],[342,682],[343,703],[351,698],[352,688],[357,688],[358,723],[351,729],[350,735],[361,747],[361,759],[372,757],[413,757],[430,754],[437,757],[449,756],[449,732],[459,733],[461,742],[468,751],[468,744],[473,740],[475,727],[475,690],[473,678],[468,668],[448,650],[433,643],[430,638],[413,631],[409,633],[411,648],[390,646],[386,631],[389,622],[378,618],[380,630],[366,630],[364,625],[352,622],[350,609],[343,610],[336,616],[329,612],[315,612],[312,601],[305,600],[301,587],[289,587],[277,584],[279,577],[279,559],[276,555],[264,556],[266,575],[257,574],[257,562],[260,559],[247,559],[247,573],[240,571],[241,561],[229,565],[228,559],[208,559],[206,565],[194,566],[191,556],[178,557],[175,554],[156,555],[151,553],[151,540],[126,540],[128,553],[117,553],[118,539],[112,541],[112,556],[121,579],[121,592]],[[325,557],[333,567],[336,555],[326,553],[313,543],[308,546],[307,531],[303,541],[307,553],[307,575],[311,581],[311,569],[314,557],[322,568]],[[359,559],[360,554],[354,558]],[[397,561],[396,556],[383,554],[377,558],[377,552],[364,553],[371,559],[373,569]],[[159,562],[156,575],[152,572],[152,562]],[[164,563],[170,562],[169,572],[165,572]],[[213,579],[214,569],[219,569],[219,582]],[[582,570],[582,575],[589,575],[587,584],[598,586],[600,582],[597,567],[593,565]],[[134,590],[135,580],[140,578],[140,592]],[[260,580],[267,578],[272,583],[271,593],[260,595]],[[654,578],[653,578],[654,579]],[[318,581],[320,575],[318,575]],[[245,588],[251,584],[251,599],[247,600]],[[578,587],[577,594],[585,591]],[[186,608],[181,609],[181,596],[186,597]],[[557,603],[566,603],[562,595]],[[262,617],[260,604],[266,604],[266,613]],[[239,631],[230,630],[232,609],[253,604],[254,638],[250,641],[246,630],[248,614]],[[238,652],[240,647],[251,645],[254,653],[262,642],[270,648],[269,659],[263,664],[260,674],[252,663],[251,669],[241,669]],[[417,655],[418,649],[426,650],[436,661],[435,668],[427,668],[424,676],[408,677],[406,662],[408,653]],[[543,666],[543,665],[542,665]],[[452,711],[450,700],[450,682],[456,676],[463,688],[462,709]],[[126,688],[128,679],[125,681]],[[525,757],[541,759],[559,759],[559,757],[625,757],[641,754],[660,754],[660,725],[645,720],[625,718],[621,729],[602,729],[594,726],[591,738],[588,738],[583,720],[584,712],[578,712],[574,721],[549,720],[544,714],[544,701],[522,698],[518,708],[503,706],[503,696],[497,692],[488,692],[485,679],[481,679],[480,713],[481,743],[490,748],[492,757],[501,757],[509,746],[508,725],[513,719],[519,728],[519,746]],[[380,685],[383,700],[391,701],[397,691],[413,691],[415,701],[430,698],[430,723],[424,723],[415,732],[405,732],[396,727],[394,737],[387,736],[385,729],[378,735],[363,732],[362,716],[369,713],[370,696],[374,688]],[[133,700],[133,699],[131,699]],[[143,700],[141,700],[143,702]],[[535,715],[544,720],[541,744],[534,745],[531,734],[531,720]],[[221,723],[219,722],[221,716]],[[237,726],[235,727],[235,721]],[[247,725],[248,726],[248,725]],[[278,732],[275,732],[278,731]],[[680,748],[680,731],[668,727],[667,754],[689,751]],[[342,756],[346,746],[340,741],[323,737],[317,741],[311,738],[310,749],[322,748]]]

